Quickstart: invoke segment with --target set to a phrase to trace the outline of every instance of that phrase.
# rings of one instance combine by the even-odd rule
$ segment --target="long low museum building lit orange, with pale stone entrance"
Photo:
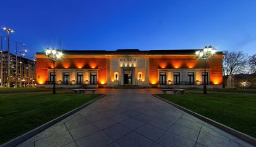
[[[38,87],[208,87],[220,88],[223,82],[223,52],[204,62],[194,49],[186,50],[62,50],[62,58],[53,63],[45,52],[37,52]],[[206,81],[203,81],[203,75]]]

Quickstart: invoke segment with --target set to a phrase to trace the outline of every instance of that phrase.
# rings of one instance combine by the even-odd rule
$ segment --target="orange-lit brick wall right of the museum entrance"
[[[204,68],[203,60],[195,56],[151,56],[149,58],[150,84],[158,84],[158,69]],[[207,62],[210,68],[210,81],[213,84],[222,84],[222,55],[215,55]]]

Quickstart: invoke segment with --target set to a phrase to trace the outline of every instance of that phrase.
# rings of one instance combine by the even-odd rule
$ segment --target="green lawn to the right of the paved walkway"
[[[202,90],[200,90],[202,92]],[[221,91],[222,92],[222,91]],[[256,94],[188,92],[159,95],[177,105],[256,137]]]

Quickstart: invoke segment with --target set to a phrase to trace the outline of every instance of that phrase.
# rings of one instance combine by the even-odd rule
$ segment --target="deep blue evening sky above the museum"
[[[256,54],[255,0],[9,0],[0,9],[0,26],[13,28],[11,39],[25,42],[30,56],[48,46],[59,48],[60,39],[66,50],[200,49],[211,44]]]

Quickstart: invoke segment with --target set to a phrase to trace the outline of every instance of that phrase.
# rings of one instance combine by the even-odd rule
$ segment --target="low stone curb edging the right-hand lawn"
[[[232,129],[231,127],[228,127],[228,126],[223,125],[223,124],[221,124],[219,122],[213,121],[212,119],[209,119],[209,118],[207,118],[205,116],[202,116],[202,115],[197,114],[197,113],[195,113],[193,111],[190,111],[189,109],[184,108],[182,106],[179,106],[179,105],[177,105],[177,104],[175,104],[175,103],[173,103],[171,101],[168,101],[168,100],[166,100],[164,98],[161,98],[158,95],[153,95],[153,97],[156,97],[156,98],[158,98],[158,99],[168,103],[169,105],[173,105],[174,107],[176,107],[178,109],[181,109],[182,111],[184,111],[184,112],[186,112],[186,113],[188,113],[188,114],[190,114],[190,115],[192,115],[194,117],[197,117],[198,119],[201,119],[202,121],[207,122],[208,124],[211,124],[211,125],[217,127],[218,129],[221,129],[224,132],[227,132],[227,133],[233,135],[234,137],[237,137],[237,138],[239,138],[241,140],[244,140],[247,143],[250,143],[251,145],[256,146],[256,138],[254,138],[254,137],[250,137],[249,135],[247,135],[245,133],[239,132],[238,130]]]

